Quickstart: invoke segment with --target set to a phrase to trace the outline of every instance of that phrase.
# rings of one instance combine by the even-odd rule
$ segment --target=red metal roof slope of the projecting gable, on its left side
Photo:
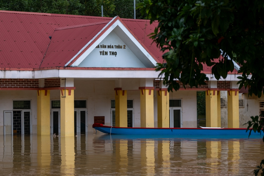
[[[57,28],[51,38],[40,68],[50,66],[64,66],[71,60],[108,21],[90,23],[71,27]]]

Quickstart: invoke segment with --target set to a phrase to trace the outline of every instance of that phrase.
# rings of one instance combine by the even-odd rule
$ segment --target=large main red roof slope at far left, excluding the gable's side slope
[[[0,11],[0,14],[1,68],[39,68],[49,36],[56,28],[112,19],[16,11]]]

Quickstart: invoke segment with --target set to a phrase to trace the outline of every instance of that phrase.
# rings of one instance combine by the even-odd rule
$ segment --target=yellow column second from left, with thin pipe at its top
[[[71,89],[61,90],[61,136],[74,136],[74,90]]]

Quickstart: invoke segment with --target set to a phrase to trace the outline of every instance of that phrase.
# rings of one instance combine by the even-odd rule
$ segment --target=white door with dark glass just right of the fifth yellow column
[[[170,128],[182,128],[182,108],[170,107]]]

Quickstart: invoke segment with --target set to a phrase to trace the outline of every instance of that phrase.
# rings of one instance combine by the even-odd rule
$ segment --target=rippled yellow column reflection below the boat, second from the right
[[[218,164],[221,162],[221,141],[206,141],[206,157],[211,165],[211,173],[217,173]]]

